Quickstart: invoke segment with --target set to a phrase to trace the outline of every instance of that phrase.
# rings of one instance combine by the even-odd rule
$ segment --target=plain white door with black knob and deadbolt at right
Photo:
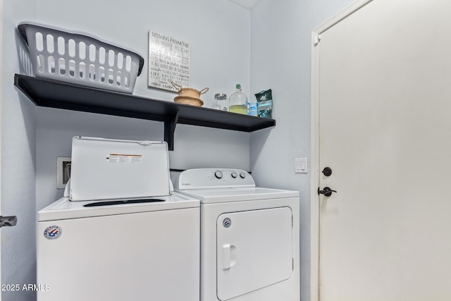
[[[321,301],[451,300],[450,13],[374,0],[320,32]]]

